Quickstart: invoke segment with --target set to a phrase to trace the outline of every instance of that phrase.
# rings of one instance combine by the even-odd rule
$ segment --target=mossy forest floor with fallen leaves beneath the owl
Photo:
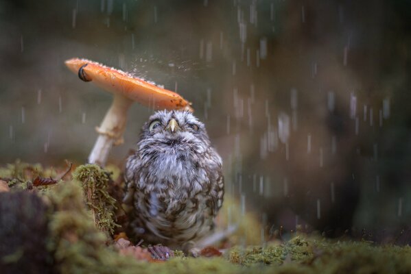
[[[197,258],[133,245],[121,227],[119,169],[67,166],[17,161],[0,168],[1,273],[411,273],[410,246],[301,232],[261,246],[251,214],[233,217],[237,232]],[[226,215],[223,208],[222,227]]]

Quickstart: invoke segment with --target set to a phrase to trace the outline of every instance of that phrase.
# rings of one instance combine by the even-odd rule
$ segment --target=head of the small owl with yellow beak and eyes
[[[187,111],[163,110],[154,113],[143,125],[139,148],[195,149],[204,151],[210,141],[204,124]]]

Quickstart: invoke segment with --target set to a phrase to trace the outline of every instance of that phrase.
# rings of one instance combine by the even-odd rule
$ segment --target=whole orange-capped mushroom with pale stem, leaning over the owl
[[[123,142],[127,112],[133,101],[154,110],[193,111],[191,103],[176,92],[165,90],[123,71],[79,58],[67,60],[65,64],[84,82],[93,82],[114,95],[113,103],[102,124],[96,127],[99,136],[89,155],[88,161],[91,164],[104,166],[113,145]]]

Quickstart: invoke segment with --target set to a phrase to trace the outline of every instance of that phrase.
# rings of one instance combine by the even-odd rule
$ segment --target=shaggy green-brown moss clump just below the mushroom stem
[[[82,183],[84,197],[98,229],[113,234],[117,201],[108,193],[110,177],[104,169],[95,164],[78,166],[73,172],[73,179]]]

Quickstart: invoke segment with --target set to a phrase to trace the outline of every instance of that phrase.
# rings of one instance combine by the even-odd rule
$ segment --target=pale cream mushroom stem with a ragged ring
[[[96,128],[99,136],[89,155],[90,164],[105,166],[113,145],[123,142],[127,111],[131,104],[132,100],[122,95],[114,95],[113,103],[106,113],[102,124]]]

